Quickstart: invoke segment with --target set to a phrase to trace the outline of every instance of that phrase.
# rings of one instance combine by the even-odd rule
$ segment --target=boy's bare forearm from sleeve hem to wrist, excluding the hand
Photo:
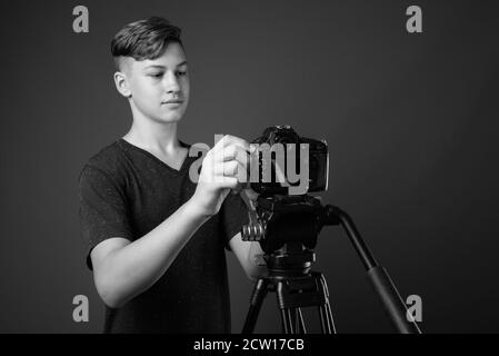
[[[209,216],[194,200],[182,205],[149,234],[131,243],[110,238],[90,255],[93,279],[102,300],[119,308],[152,286]]]

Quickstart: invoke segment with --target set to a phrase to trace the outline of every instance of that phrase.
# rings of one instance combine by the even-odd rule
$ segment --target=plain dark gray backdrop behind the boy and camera
[[[72,32],[72,9],[90,32]],[[423,33],[406,31],[419,4]],[[496,1],[2,1],[0,332],[99,333],[84,267],[77,179],[126,134],[109,43],[152,14],[183,29],[192,97],[180,138],[248,140],[291,125],[327,139],[330,188],[427,333],[498,332],[498,7]],[[252,284],[230,268],[233,332]],[[390,333],[346,235],[322,230],[340,333]],[[90,322],[72,320],[72,297]],[[257,332],[279,332],[273,296]],[[310,314],[311,328],[315,314]]]

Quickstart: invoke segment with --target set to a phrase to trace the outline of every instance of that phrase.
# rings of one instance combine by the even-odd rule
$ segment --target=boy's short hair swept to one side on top
[[[160,17],[128,23],[111,41],[116,68],[121,70],[123,57],[131,57],[134,60],[157,59],[171,42],[177,42],[183,48],[180,32],[180,28]]]

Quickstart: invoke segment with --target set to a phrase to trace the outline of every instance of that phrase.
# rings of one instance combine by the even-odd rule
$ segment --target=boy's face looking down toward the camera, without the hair
[[[136,110],[160,122],[182,118],[189,102],[189,77],[186,53],[179,43],[169,43],[153,60],[128,58],[123,67],[126,87]]]

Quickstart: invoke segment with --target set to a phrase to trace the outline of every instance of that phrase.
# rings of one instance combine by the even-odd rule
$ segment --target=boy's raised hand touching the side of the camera
[[[216,215],[231,189],[239,190],[246,186],[250,152],[247,141],[229,135],[207,152],[191,198],[202,215]]]

